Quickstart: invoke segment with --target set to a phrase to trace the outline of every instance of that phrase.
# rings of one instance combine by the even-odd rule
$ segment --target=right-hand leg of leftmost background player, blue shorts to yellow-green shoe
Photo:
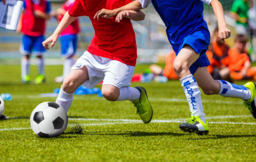
[[[34,51],[36,54],[36,65],[38,66],[38,76],[35,78],[35,84],[42,84],[46,82],[46,76],[44,75],[44,57],[43,53],[46,51],[44,49],[42,42],[44,41],[44,36],[34,37]]]

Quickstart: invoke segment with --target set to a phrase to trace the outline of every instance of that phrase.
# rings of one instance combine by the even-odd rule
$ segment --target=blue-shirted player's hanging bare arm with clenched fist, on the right
[[[209,5],[212,6],[213,12],[217,18],[218,36],[224,41],[224,39],[230,37],[230,30],[226,27],[222,5],[218,0],[212,0]]]

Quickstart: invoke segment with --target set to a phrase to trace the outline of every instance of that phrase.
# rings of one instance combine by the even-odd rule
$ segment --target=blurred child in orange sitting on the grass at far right
[[[251,62],[247,53],[246,35],[237,35],[234,48],[229,49],[226,59],[226,67],[230,72],[230,77],[234,80],[253,79],[256,80],[256,67],[251,67]]]

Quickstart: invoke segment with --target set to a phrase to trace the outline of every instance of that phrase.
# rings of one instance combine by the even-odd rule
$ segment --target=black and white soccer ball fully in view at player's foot
[[[68,116],[60,105],[44,102],[32,111],[30,125],[39,137],[57,137],[67,128]]]

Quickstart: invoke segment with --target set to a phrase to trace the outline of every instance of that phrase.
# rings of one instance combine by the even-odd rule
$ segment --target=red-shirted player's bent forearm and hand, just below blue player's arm
[[[144,20],[145,14],[141,10],[139,11],[125,10],[117,14],[117,16],[115,17],[115,21],[119,23],[122,20],[122,18],[129,18],[134,21],[141,21],[141,20]]]

